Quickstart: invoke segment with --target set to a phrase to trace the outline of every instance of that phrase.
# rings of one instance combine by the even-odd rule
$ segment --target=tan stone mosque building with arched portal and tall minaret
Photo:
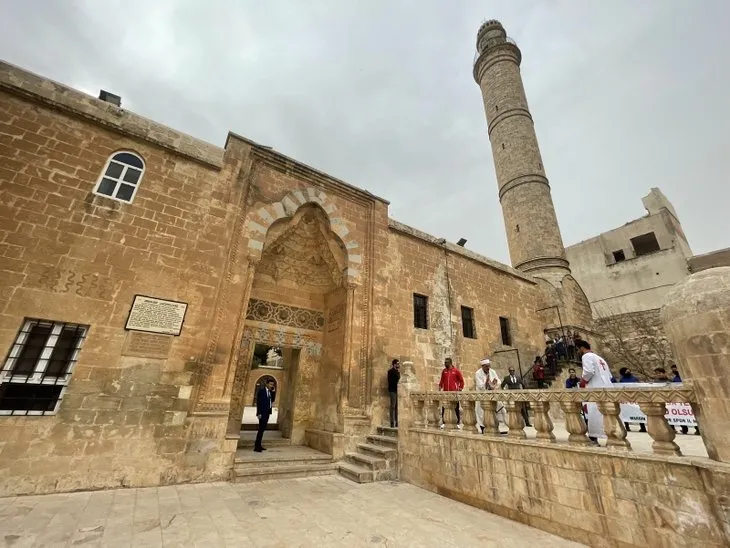
[[[283,439],[340,459],[385,423],[393,357],[435,387],[453,356],[469,386],[546,329],[594,337],[521,52],[496,21],[477,48],[512,266],[235,133],[1,63],[0,494],[228,479],[267,376]]]

